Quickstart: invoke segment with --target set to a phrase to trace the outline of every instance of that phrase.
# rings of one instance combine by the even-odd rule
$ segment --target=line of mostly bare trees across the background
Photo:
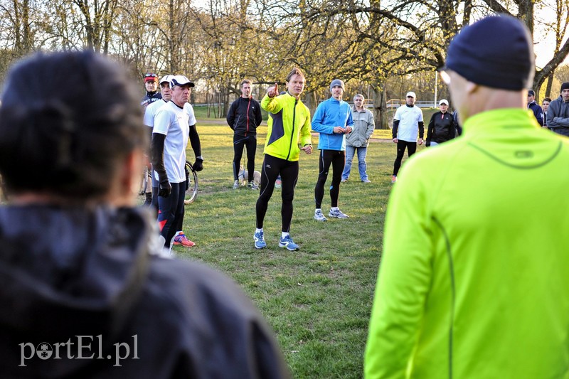
[[[186,74],[198,83],[193,102],[223,117],[240,80],[252,79],[260,97],[297,65],[312,110],[342,78],[346,99],[373,99],[387,128],[387,101],[408,90],[432,100],[452,37],[494,13],[520,18],[536,43],[552,46],[533,88],[557,97],[568,80],[569,0],[1,0],[0,73],[33,51],[90,48],[127,65],[141,95],[145,72]],[[437,91],[448,97],[440,83]]]

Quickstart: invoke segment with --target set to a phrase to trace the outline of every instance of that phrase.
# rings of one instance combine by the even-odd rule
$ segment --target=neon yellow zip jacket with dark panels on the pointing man
[[[299,142],[301,146],[312,145],[310,110],[288,92],[272,98],[265,95],[261,107],[269,112],[265,154],[298,161]]]

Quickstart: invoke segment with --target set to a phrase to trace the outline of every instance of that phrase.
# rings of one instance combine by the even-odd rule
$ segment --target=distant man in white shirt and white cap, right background
[[[419,134],[419,144],[422,144],[422,137],[425,133],[425,123],[422,121],[422,111],[420,107],[415,107],[417,95],[415,92],[407,92],[405,95],[405,105],[401,105],[395,111],[393,117],[393,142],[397,144],[397,158],[393,164],[393,176],[391,183],[397,181],[397,174],[401,167],[405,148],[407,156],[412,156],[417,151],[417,134]]]

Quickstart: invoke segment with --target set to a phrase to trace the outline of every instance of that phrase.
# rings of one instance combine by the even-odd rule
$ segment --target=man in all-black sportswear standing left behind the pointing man
[[[243,147],[247,146],[248,182],[252,189],[259,187],[253,181],[255,174],[255,150],[257,149],[257,127],[261,124],[261,106],[251,97],[251,81],[241,82],[241,96],[235,100],[227,113],[227,123],[233,129],[233,188],[238,188],[239,169]]]

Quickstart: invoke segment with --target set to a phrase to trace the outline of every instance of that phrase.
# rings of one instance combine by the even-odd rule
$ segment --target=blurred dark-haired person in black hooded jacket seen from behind
[[[1,102],[1,378],[288,376],[230,279],[159,257],[151,211],[135,206],[148,132],[125,70],[91,52],[33,55]]]

